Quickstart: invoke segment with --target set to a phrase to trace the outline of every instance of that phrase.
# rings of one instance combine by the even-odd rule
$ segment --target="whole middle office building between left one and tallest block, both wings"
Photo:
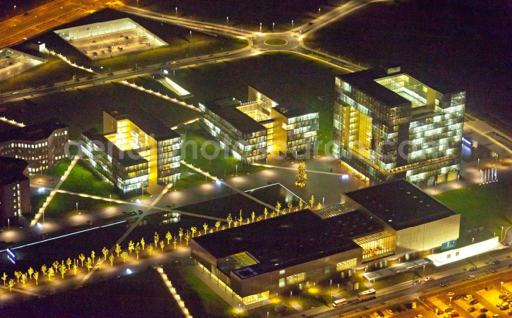
[[[279,94],[263,86],[274,96]],[[318,141],[318,112],[302,101],[281,97],[276,102],[252,86],[248,100],[224,98],[199,104],[203,128],[240,160],[262,160],[267,153],[296,156]]]

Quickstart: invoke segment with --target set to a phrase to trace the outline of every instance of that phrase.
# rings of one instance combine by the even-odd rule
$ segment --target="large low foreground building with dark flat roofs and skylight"
[[[191,255],[244,305],[309,288],[357,269],[454,246],[460,215],[406,180],[347,193],[303,210],[195,237]]]

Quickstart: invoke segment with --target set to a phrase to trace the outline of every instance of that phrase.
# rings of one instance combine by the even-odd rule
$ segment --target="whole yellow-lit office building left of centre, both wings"
[[[142,109],[104,111],[103,131],[82,133],[83,151],[123,193],[145,188],[149,181],[167,184],[179,178],[181,136]]]

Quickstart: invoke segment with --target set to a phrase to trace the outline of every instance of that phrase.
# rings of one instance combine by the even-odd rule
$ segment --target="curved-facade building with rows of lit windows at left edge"
[[[23,159],[29,173],[45,171],[66,158],[68,126],[54,120],[2,132],[0,155]]]

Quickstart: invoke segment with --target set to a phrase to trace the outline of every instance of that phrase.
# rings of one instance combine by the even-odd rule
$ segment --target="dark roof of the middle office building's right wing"
[[[292,95],[290,92],[292,89],[294,89],[291,87],[294,85],[288,82],[261,82],[251,84],[250,86],[274,102],[278,103],[274,109],[282,113],[286,118],[308,115],[310,113],[317,112],[302,100],[290,96]]]

